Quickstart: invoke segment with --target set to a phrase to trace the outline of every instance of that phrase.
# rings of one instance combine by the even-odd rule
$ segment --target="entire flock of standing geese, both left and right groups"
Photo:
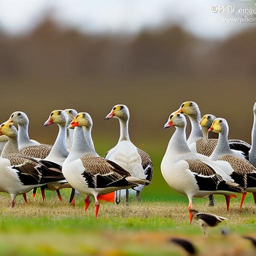
[[[172,112],[164,128],[174,126],[166,152],[161,161],[161,173],[167,184],[186,195],[189,200],[189,220],[192,220],[192,198],[222,194],[229,209],[231,197],[241,193],[240,208],[247,192],[252,192],[256,203],[256,103],[252,145],[238,139],[228,140],[228,124],[224,118],[205,114],[202,118],[198,105],[185,101]],[[186,118],[191,122],[191,133],[186,139]],[[53,145],[41,144],[28,135],[28,117],[24,112],[13,112],[0,124],[0,191],[11,196],[11,206],[17,194],[27,202],[26,192],[40,187],[42,199],[45,189],[55,190],[61,200],[60,189],[71,188],[74,204],[75,190],[85,195],[85,210],[94,198],[95,216],[99,199],[118,202],[118,192],[129,188],[140,191],[152,179],[153,165],[147,153],[137,148],[129,138],[129,110],[126,105],[112,107],[105,119],[117,118],[120,136],[117,144],[104,157],[95,151],[91,137],[92,119],[86,112],[74,109],[54,110],[44,126],[57,124],[59,131]],[[217,132],[218,139],[208,138]],[[132,191],[132,190],[130,190]],[[120,196],[120,192],[119,192]]]

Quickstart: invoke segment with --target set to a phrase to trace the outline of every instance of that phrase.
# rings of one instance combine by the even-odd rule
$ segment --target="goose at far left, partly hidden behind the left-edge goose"
[[[43,159],[49,154],[51,145],[40,144],[38,141],[29,138],[29,120],[24,112],[13,112],[8,121],[18,125],[18,148],[20,153],[39,159]]]

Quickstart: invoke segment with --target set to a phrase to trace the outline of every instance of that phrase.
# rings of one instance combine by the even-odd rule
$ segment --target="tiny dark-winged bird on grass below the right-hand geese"
[[[217,226],[223,220],[227,220],[227,218],[225,217],[217,216],[211,213],[199,212],[195,209],[190,209],[189,212],[191,212],[192,216],[194,216],[196,219],[199,219],[203,229],[203,233],[206,236],[207,236],[207,232],[206,232],[207,227]]]

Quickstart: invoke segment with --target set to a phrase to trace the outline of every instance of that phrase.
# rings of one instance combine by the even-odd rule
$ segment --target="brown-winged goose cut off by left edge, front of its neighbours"
[[[18,153],[17,130],[13,123],[4,122],[0,125],[0,135],[2,134],[8,136],[8,142],[0,157],[0,191],[10,194],[11,207],[14,207],[17,194],[22,194],[27,202],[26,192],[29,190],[64,179],[61,172]]]

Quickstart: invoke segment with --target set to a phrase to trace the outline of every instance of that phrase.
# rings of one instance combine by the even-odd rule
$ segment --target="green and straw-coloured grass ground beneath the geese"
[[[242,212],[239,199],[233,199],[229,212],[221,198],[214,207],[207,200],[194,200],[200,211],[228,218],[222,224],[230,234],[222,236],[218,227],[204,237],[199,223],[188,224],[186,201],[146,201],[114,205],[102,203],[98,219],[93,215],[93,203],[86,213],[83,197],[75,207],[67,203],[68,191],[59,202],[54,193],[47,192],[41,202],[28,194],[24,204],[18,196],[13,209],[8,195],[0,195],[0,254],[4,255],[185,255],[169,242],[171,237],[192,241],[199,255],[255,255],[249,241],[241,234],[256,236],[256,206],[247,198]],[[252,200],[250,200],[252,201]],[[234,242],[235,241],[235,242]]]

